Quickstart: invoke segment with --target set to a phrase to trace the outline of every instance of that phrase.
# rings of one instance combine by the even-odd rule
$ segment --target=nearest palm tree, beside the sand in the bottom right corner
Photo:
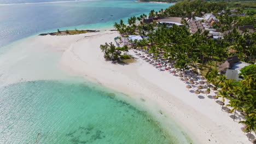
[[[250,140],[252,131],[256,131],[256,115],[255,113],[252,113],[248,116],[246,116],[246,121],[240,121],[239,123],[244,123],[246,124],[246,130],[249,130],[249,136],[248,136],[248,140]]]

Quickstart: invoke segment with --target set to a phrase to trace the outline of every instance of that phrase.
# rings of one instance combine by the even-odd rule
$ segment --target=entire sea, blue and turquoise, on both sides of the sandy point
[[[179,127],[162,128],[126,95],[62,74],[55,67],[59,54],[28,53],[20,45],[57,28],[109,29],[120,19],[170,5],[0,0],[0,143],[190,143],[184,132],[175,135]]]

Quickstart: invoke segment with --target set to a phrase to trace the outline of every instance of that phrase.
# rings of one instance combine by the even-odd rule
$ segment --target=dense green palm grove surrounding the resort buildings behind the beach
[[[224,12],[223,12],[224,11]],[[208,31],[190,33],[187,20],[194,16],[202,16],[204,13],[213,12],[219,19],[220,31],[224,34],[222,39],[211,39]],[[221,12],[221,13],[220,13]],[[254,25],[255,16],[241,17],[231,16],[230,9],[225,2],[206,2],[202,0],[181,1],[166,10],[150,11],[149,16],[176,16],[183,17],[183,26],[173,25],[168,27],[160,23],[144,23],[147,15],[131,17],[127,24],[123,20],[115,22],[114,27],[123,36],[129,34],[146,35],[146,39],[130,41],[130,49],[144,49],[152,53],[155,59],[163,58],[164,61],[174,63],[174,67],[184,71],[188,67],[201,70],[211,86],[219,89],[218,97],[222,97],[226,106],[232,107],[230,112],[243,112],[246,120],[241,123],[247,124],[246,129],[255,131],[256,113],[256,33],[246,29],[238,32],[237,27],[243,25]],[[139,21],[139,25],[136,25]],[[106,48],[108,47],[108,48]],[[110,48],[112,47],[112,48]],[[104,56],[107,59],[117,59],[112,44],[101,45]],[[110,49],[113,49],[112,52]],[[118,48],[127,50],[127,47]],[[106,53],[107,52],[107,53]],[[219,74],[218,65],[224,62],[228,56],[238,56],[241,61],[252,63],[241,70],[243,80],[226,79]],[[207,70],[206,73],[202,73]],[[223,108],[223,107],[222,107]],[[235,120],[234,116],[234,120]]]

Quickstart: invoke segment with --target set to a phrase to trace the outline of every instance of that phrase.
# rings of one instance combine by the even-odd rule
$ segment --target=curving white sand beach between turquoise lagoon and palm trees
[[[60,53],[54,67],[61,68],[68,75],[83,76],[130,95],[133,100],[146,106],[155,117],[166,117],[166,125],[168,118],[174,119],[196,143],[251,143],[247,133],[240,129],[243,127],[238,123],[241,117],[234,122],[230,117],[233,114],[222,111],[214,99],[207,97],[215,93],[189,92],[179,77],[157,70],[138,58],[132,50],[129,55],[136,58],[135,63],[121,65],[106,62],[100,45],[111,41],[114,43],[118,35],[115,31],[101,31],[79,35],[37,36],[28,46],[32,49],[37,45],[37,49]],[[37,75],[44,75],[46,79],[57,76],[43,73]]]

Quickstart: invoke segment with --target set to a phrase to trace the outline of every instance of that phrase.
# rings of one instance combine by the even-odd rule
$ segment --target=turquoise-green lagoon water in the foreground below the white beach
[[[0,143],[178,143],[118,93],[70,81],[1,88]]]

